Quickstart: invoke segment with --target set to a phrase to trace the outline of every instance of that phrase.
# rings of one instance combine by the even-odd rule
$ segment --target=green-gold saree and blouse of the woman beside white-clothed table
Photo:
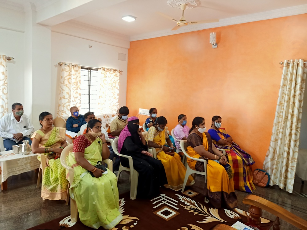
[[[33,133],[31,139],[33,138],[39,140],[40,148],[60,148],[65,140],[65,128],[54,127],[46,134],[37,130]],[[38,155],[37,159],[41,161],[41,156]],[[68,180],[60,158],[47,158],[46,163],[41,183],[41,197],[47,200],[66,200]]]

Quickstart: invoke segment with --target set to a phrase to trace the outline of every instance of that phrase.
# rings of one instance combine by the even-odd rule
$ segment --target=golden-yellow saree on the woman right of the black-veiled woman
[[[159,145],[165,144],[165,132],[160,131],[156,133],[153,138],[153,142]],[[161,160],[167,178],[166,188],[179,189],[182,187],[185,180],[185,172],[187,171],[183,163],[181,162],[181,157],[175,152],[174,156],[166,154],[161,149],[156,148],[157,159]],[[189,176],[187,186],[192,186],[195,183],[192,176]]]

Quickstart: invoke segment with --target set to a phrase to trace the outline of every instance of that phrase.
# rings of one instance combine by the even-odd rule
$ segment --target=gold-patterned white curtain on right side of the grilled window
[[[100,68],[97,114],[116,113],[119,108],[119,71]]]

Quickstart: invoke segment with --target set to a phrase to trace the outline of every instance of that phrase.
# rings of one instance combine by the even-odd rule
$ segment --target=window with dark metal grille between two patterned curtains
[[[97,113],[98,69],[81,67],[81,107],[80,113]]]

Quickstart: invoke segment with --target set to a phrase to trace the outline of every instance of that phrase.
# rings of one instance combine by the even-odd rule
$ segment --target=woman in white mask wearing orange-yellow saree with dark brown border
[[[207,180],[205,184],[205,197],[217,209],[234,209],[238,206],[233,186],[231,166],[213,144],[210,135],[205,132],[205,119],[195,117],[187,139],[187,154],[194,158],[207,160]],[[187,158],[191,169],[204,171],[204,164]],[[200,167],[198,167],[200,166]],[[202,166],[202,169],[201,169]]]

